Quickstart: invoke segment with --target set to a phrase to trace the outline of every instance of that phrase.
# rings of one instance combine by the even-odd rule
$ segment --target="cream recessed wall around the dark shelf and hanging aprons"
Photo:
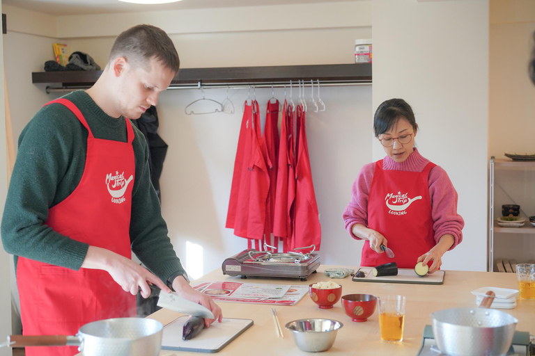
[[[210,32],[213,30],[207,27],[198,29],[199,33],[186,33],[187,31],[178,29],[177,33],[170,35],[180,54],[182,67],[352,63],[355,39],[371,36],[371,1],[344,4],[341,8],[341,4],[333,3],[330,10],[346,14],[359,13],[364,19],[360,21],[358,16],[352,16],[352,26],[348,26],[350,17],[347,15],[340,17],[339,21],[334,21],[333,17],[320,20],[326,10],[317,6],[248,8],[246,16],[244,9],[238,9],[234,15],[229,15],[231,18],[218,24],[217,32]],[[290,11],[293,15],[300,13],[305,16],[294,16],[292,29],[287,29],[288,22],[270,21],[265,25],[265,31],[251,31],[250,19],[266,11]],[[193,11],[189,15],[197,16],[199,23],[210,24],[210,17],[207,18],[204,11]],[[212,11],[209,15],[221,16],[219,10]],[[122,16],[125,19],[123,22],[132,20],[128,19],[127,14]],[[77,20],[80,23],[84,21],[83,18]],[[102,18],[92,20],[104,23]],[[68,21],[64,17],[58,20],[61,24]],[[160,22],[154,24],[162,28],[174,25],[165,17],[158,21]],[[234,29],[228,29],[228,23],[233,23]],[[317,28],[309,29],[311,23]],[[15,47],[35,47],[38,59],[37,62],[29,60],[19,64],[22,72],[13,75],[10,86],[20,85],[20,77],[24,72],[39,70],[42,62],[51,59],[52,50],[47,48],[51,48],[50,44],[56,40],[67,43],[72,50],[91,54],[97,63],[104,66],[114,36],[118,33],[111,26],[102,28],[104,30],[100,31],[111,31],[109,33],[113,35],[93,37],[93,28],[78,26],[77,31],[85,29],[82,37],[42,38],[38,40],[39,44],[33,42],[33,31],[20,30],[20,33],[13,36],[11,43]],[[235,29],[240,31],[234,31]],[[68,31],[62,33],[67,35]],[[13,57],[10,60],[13,65],[20,63]],[[26,83],[22,84],[26,86]],[[33,86],[33,90],[36,89],[38,92],[24,89],[27,94],[24,99],[35,103],[36,107],[18,107],[21,114],[17,115],[19,124],[14,128],[15,136],[20,134],[20,130],[42,104],[59,95],[43,95],[43,86]],[[276,89],[275,93],[279,99],[283,99],[282,89]],[[207,94],[208,97],[222,100],[226,90],[207,90]],[[371,131],[371,86],[325,87],[321,94],[327,104],[327,111],[309,114],[307,132],[325,241],[322,262],[358,266],[360,248],[352,243],[343,229],[341,213],[349,201],[352,181],[360,167],[371,160],[371,147],[365,140]],[[21,97],[20,93],[13,95]],[[297,95],[296,89],[294,95]],[[224,228],[242,115],[241,104],[246,96],[247,90],[231,90],[235,115],[195,117],[185,115],[184,108],[200,97],[199,90],[169,90],[160,97],[160,133],[170,145],[161,181],[163,213],[169,224],[169,236],[183,261],[186,261],[186,241],[203,248],[201,273],[220,268],[224,258],[247,246],[244,239],[233,236],[232,230]],[[261,106],[265,106],[271,97],[271,90],[256,90],[256,96]],[[352,244],[349,249],[345,248],[348,243]]]

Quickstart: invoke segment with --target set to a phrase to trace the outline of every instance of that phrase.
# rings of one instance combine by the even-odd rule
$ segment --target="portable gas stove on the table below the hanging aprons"
[[[296,248],[295,252],[269,252],[267,248],[274,250],[273,246],[264,244],[265,251],[257,251],[254,248],[243,250],[228,257],[221,266],[224,275],[247,277],[286,277],[300,278],[306,281],[307,277],[315,273],[320,266],[320,254],[314,252],[315,245],[306,248]],[[311,248],[311,252],[303,253],[297,250]]]

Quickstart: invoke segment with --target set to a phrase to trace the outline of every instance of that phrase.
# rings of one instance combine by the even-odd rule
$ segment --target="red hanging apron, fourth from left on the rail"
[[[275,200],[273,234],[284,239],[283,250],[289,251],[293,234],[293,202],[295,199],[295,158],[293,111],[286,100],[282,110],[279,163],[277,165],[277,199]]]

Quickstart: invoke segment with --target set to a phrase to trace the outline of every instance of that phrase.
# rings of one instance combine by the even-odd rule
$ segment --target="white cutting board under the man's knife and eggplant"
[[[188,315],[180,316],[164,327],[162,350],[217,353],[253,325],[251,319],[223,318],[221,323],[212,323],[193,339],[183,340],[182,332],[187,319]]]

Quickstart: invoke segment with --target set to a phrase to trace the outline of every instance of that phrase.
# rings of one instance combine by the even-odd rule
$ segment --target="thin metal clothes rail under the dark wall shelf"
[[[221,88],[229,88],[229,89],[249,89],[249,88],[283,88],[286,86],[286,88],[290,88],[290,81],[288,82],[277,82],[277,83],[242,83],[242,84],[236,84],[236,83],[213,83],[213,84],[202,84],[203,89],[221,89]],[[292,81],[292,86],[297,86],[297,83],[295,81]],[[316,85],[316,82],[313,84]],[[303,85],[301,85],[303,86]],[[304,86],[309,87],[311,86],[310,83],[304,83]],[[339,81],[339,82],[321,82],[320,86],[371,86],[371,82],[355,82],[355,81]],[[54,86],[47,86],[46,92],[47,94],[50,94],[51,92],[72,92],[74,90],[83,90],[91,88],[91,86],[60,86],[60,87],[54,87]],[[191,84],[191,85],[183,85],[183,86],[169,86],[167,90],[175,90],[175,89],[199,89],[198,84]]]

